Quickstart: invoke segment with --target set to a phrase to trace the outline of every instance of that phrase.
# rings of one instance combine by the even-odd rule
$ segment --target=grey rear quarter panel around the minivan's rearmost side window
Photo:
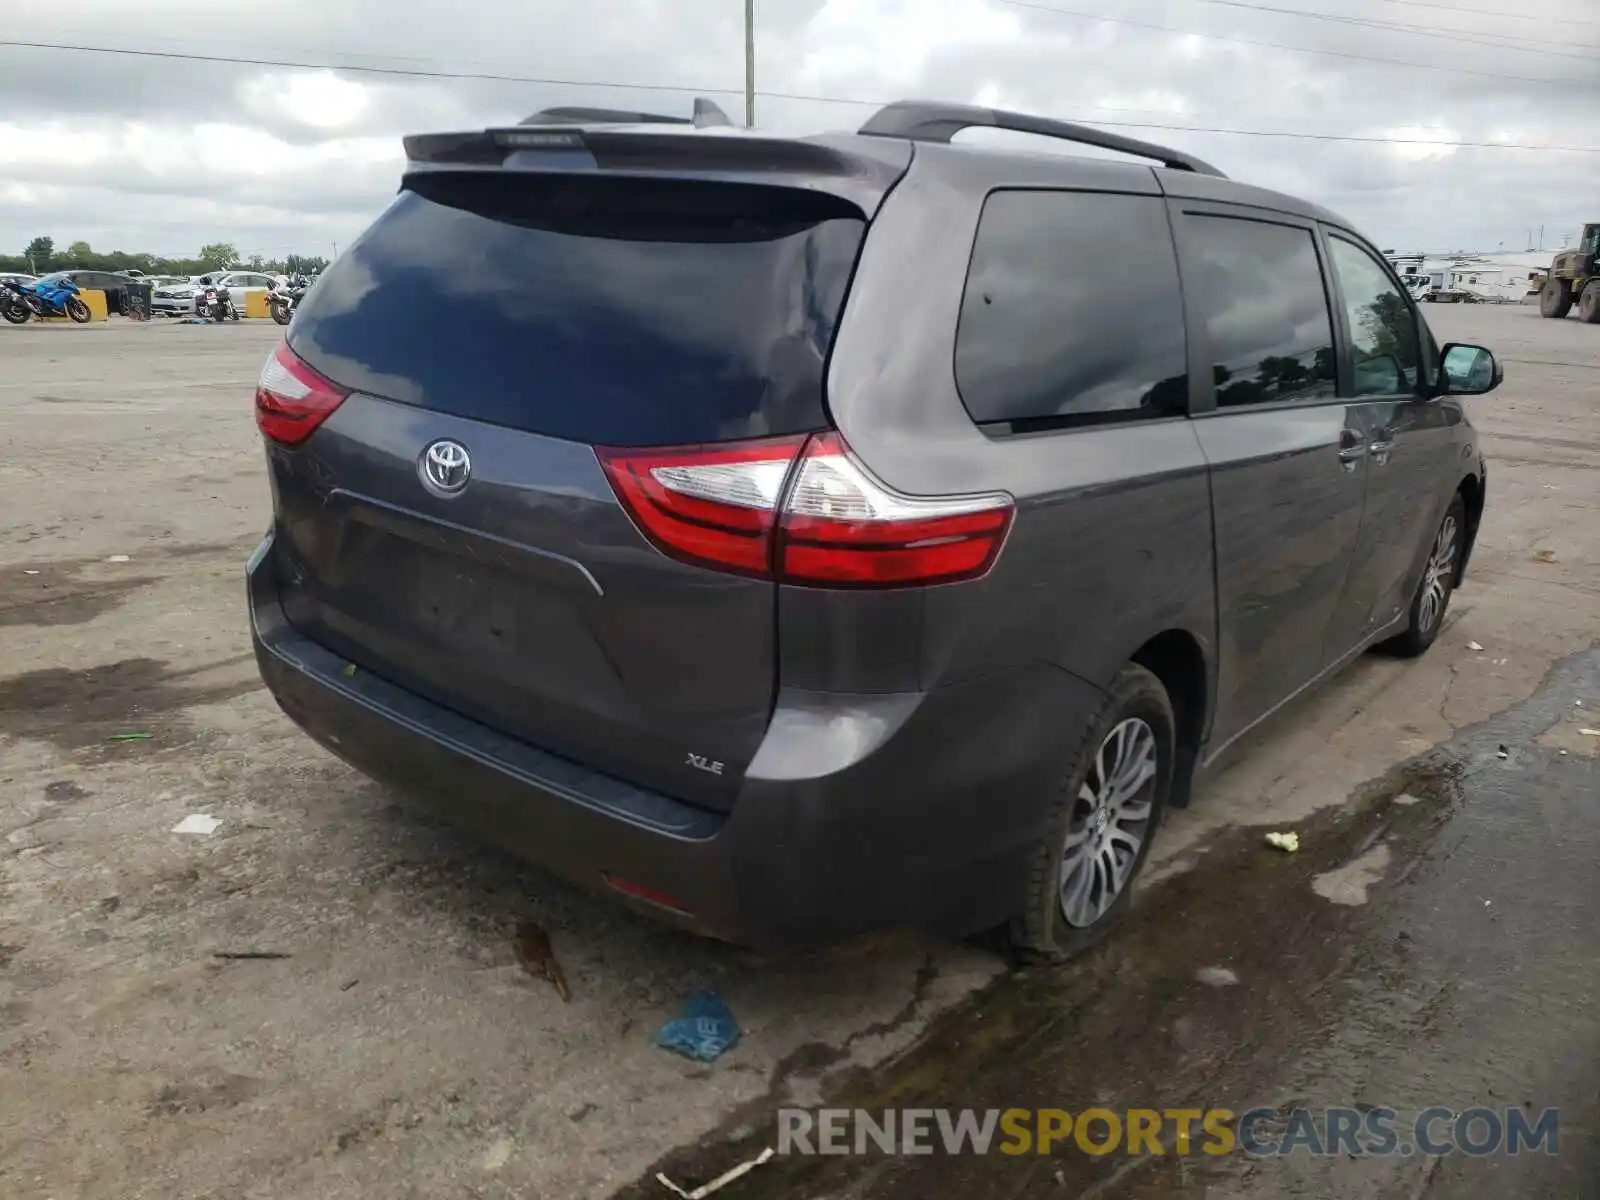
[[[1213,659],[1210,483],[1187,419],[989,437],[955,382],[954,333],[984,198],[995,187],[1157,195],[1154,176],[1118,163],[990,157],[918,147],[869,229],[829,370],[829,410],[890,486],[912,494],[1006,491],[1008,544],[981,581],[926,589],[890,611],[856,597],[786,597],[789,629],[813,635],[867,611],[880,645],[920,642],[923,690],[1043,661],[1106,686],[1150,637],[1187,630]],[[995,174],[997,166],[1005,174]],[[1107,280],[1107,286],[1126,286]],[[1062,330],[1070,338],[1070,330]],[[840,614],[830,621],[829,613]],[[909,670],[885,678],[906,686]],[[893,682],[891,682],[893,680]],[[869,680],[856,680],[856,685]],[[867,690],[867,688],[864,688]]]

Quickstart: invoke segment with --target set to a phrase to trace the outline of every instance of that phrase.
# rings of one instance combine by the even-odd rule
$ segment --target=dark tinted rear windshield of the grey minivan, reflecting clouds
[[[573,442],[802,434],[864,229],[810,192],[422,176],[290,336],[346,387]]]

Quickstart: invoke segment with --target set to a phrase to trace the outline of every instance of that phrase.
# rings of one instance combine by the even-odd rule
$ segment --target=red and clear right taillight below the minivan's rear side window
[[[1010,496],[904,496],[872,478],[838,434],[597,453],[661,550],[787,584],[974,579],[1011,526]]]

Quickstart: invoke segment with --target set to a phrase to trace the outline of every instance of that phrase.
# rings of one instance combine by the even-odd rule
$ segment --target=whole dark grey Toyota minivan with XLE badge
[[[1064,957],[1227,747],[1438,637],[1501,371],[1336,214],[990,109],[582,120],[408,138],[261,373],[259,669],[398,794],[734,941]]]

